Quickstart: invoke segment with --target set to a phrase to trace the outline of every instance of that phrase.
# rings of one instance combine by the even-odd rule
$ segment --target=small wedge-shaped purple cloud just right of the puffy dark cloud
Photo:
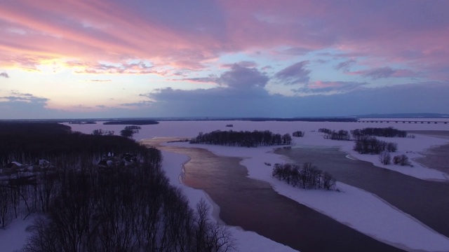
[[[297,62],[277,72],[274,78],[280,80],[284,85],[307,83],[310,80],[309,73],[311,72],[305,69],[307,64],[309,64],[308,60]]]

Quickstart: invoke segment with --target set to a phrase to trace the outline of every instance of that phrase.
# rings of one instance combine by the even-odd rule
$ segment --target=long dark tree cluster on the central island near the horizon
[[[190,144],[215,144],[222,146],[273,146],[291,144],[290,134],[274,134],[269,130],[265,131],[221,131],[215,130],[209,133],[199,132],[198,136],[190,140]]]

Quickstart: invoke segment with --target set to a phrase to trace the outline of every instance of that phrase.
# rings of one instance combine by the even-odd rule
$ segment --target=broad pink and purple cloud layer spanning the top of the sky
[[[371,68],[398,63],[449,79],[448,9],[448,1],[420,0],[8,1],[0,66],[25,55],[198,70],[227,52],[282,47],[291,57],[338,50]]]

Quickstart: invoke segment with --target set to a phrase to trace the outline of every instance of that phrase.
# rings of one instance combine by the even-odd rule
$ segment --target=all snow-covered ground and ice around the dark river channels
[[[234,127],[226,127],[232,124]],[[67,124],[68,125],[68,124]],[[115,134],[126,125],[69,125],[72,130],[91,134],[93,130],[114,130]],[[313,145],[313,146],[338,146],[341,151],[348,154],[348,158],[356,158],[372,162],[378,167],[392,169],[409,176],[419,179],[430,180],[448,180],[449,175],[434,169],[423,167],[413,161],[414,158],[421,157],[419,153],[432,146],[449,144],[449,139],[427,137],[422,134],[415,134],[415,138],[394,138],[382,139],[393,141],[398,144],[398,152],[394,155],[406,154],[413,163],[413,167],[400,167],[398,165],[381,165],[377,155],[359,155],[352,151],[354,142],[352,141],[334,141],[323,139],[323,133],[319,133],[319,128],[328,128],[330,130],[355,130],[365,127],[394,127],[398,130],[445,130],[449,131],[449,125],[444,124],[408,124],[408,123],[328,123],[328,122],[249,122],[249,121],[162,121],[158,125],[142,125],[142,130],[134,134],[134,139],[152,139],[154,137],[196,137],[199,132],[211,132],[213,130],[270,130],[274,133],[286,134],[295,131],[305,132],[304,137],[293,138],[295,145]],[[248,176],[254,179],[260,179],[272,184],[274,190],[282,195],[286,195],[301,204],[305,204],[312,209],[316,209],[322,214],[334,218],[340,223],[349,225],[370,237],[383,241],[392,246],[403,248],[407,251],[449,251],[449,238],[438,234],[431,228],[420,223],[415,218],[404,214],[402,211],[387,204],[382,199],[368,193],[364,190],[354,188],[344,183],[337,182],[337,188],[342,193],[328,192],[323,190],[299,190],[288,186],[286,183],[273,179],[271,176],[272,167],[267,167],[264,162],[272,164],[276,162],[288,162],[285,157],[272,153],[276,147],[260,148],[239,148],[208,145],[189,145],[187,143],[172,143],[170,145],[182,147],[201,147],[217,155],[240,157],[241,165],[248,169]],[[189,198],[192,206],[198,202],[201,197],[206,197],[201,190],[194,190],[179,182],[178,177],[182,170],[182,164],[187,162],[188,157],[175,153],[163,154],[163,168],[166,169],[170,182],[173,185],[182,188],[185,195]],[[211,206],[213,202],[209,201]],[[215,214],[219,209],[214,207]],[[12,230],[17,227],[24,227],[20,222],[11,223]],[[5,232],[0,230],[0,251],[4,248],[3,244],[8,241]],[[230,227],[236,238],[239,251],[293,251],[291,248],[277,244],[267,238],[261,237],[254,232],[245,232],[239,228]],[[20,234],[14,231],[16,235]],[[14,249],[20,248],[16,246]],[[13,250],[5,250],[13,251]]]

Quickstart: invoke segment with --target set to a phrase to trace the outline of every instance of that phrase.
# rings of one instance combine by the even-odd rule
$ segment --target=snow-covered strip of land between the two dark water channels
[[[344,193],[323,190],[300,190],[273,179],[272,167],[267,163],[286,162],[286,158],[272,153],[273,148],[239,148],[224,146],[170,143],[183,148],[206,148],[216,155],[241,157],[241,165],[248,169],[250,178],[268,181],[281,195],[311,207],[326,216],[344,223],[377,240],[407,251],[447,251],[449,239],[431,230],[415,218],[364,190],[338,183]],[[415,237],[410,239],[410,237]]]

